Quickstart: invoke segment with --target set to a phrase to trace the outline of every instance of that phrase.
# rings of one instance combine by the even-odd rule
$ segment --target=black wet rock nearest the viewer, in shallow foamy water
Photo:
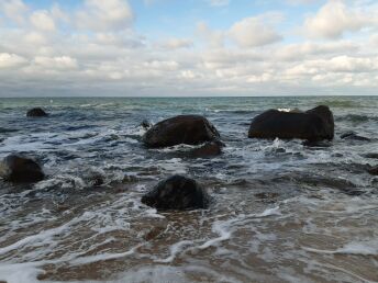
[[[143,195],[142,203],[157,210],[196,210],[207,208],[210,196],[194,180],[173,176]]]

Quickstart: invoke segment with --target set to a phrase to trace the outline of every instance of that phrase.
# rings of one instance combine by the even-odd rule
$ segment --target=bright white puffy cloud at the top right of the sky
[[[315,15],[308,16],[304,32],[310,37],[340,38],[345,32],[357,32],[369,24],[368,16],[348,9],[342,0],[329,0]]]

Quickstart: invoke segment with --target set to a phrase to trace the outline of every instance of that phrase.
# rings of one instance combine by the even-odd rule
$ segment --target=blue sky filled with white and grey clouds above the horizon
[[[0,0],[0,97],[377,87],[377,0]]]

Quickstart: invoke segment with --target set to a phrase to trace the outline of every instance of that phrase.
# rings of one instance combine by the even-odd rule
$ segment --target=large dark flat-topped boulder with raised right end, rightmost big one
[[[331,140],[334,137],[333,114],[324,105],[305,112],[268,110],[252,121],[248,137]]]

